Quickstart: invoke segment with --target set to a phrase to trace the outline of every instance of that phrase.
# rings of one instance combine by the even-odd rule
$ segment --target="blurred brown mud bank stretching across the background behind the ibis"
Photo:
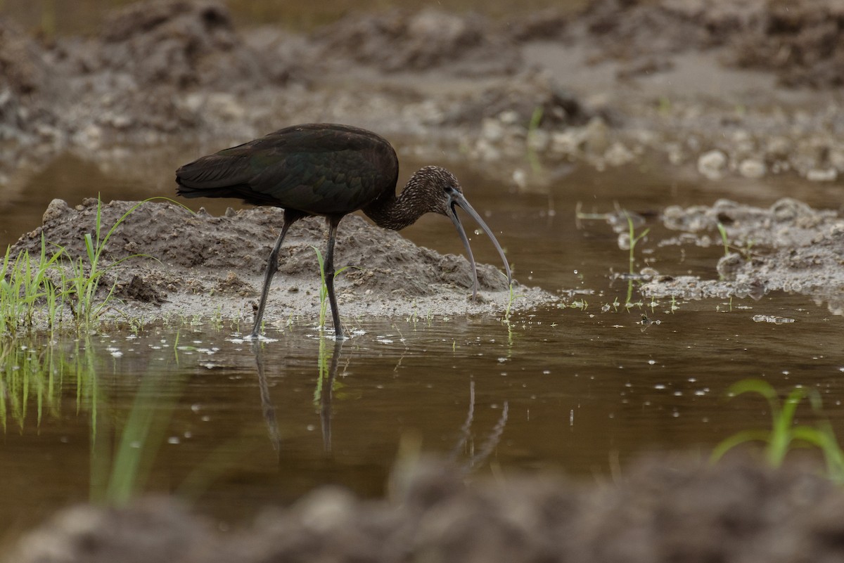
[[[710,180],[835,181],[842,17],[831,1],[602,0],[502,19],[352,13],[300,33],[235,29],[222,3],[168,0],[115,10],[99,35],[49,40],[3,19],[2,175],[66,150],[120,160],[125,147],[225,147],[338,121],[510,173],[527,149],[552,175],[655,152]]]

